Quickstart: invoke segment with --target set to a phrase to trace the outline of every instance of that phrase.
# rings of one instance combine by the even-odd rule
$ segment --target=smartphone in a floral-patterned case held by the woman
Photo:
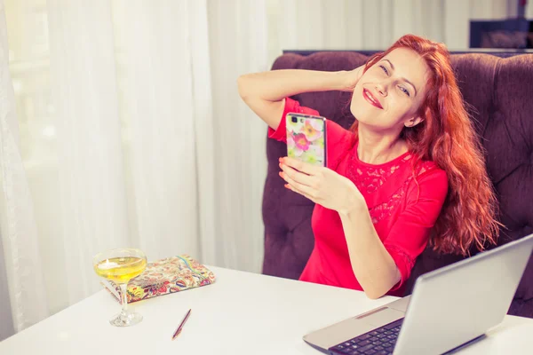
[[[326,167],[326,119],[310,114],[289,113],[287,123],[287,156]]]

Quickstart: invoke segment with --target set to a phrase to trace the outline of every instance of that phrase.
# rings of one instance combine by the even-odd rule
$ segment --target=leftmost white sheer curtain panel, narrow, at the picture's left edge
[[[10,335],[48,314],[43,264],[28,177],[20,154],[20,134],[11,75],[8,67],[4,4],[0,3],[0,236],[4,255],[0,263],[3,285],[0,335]],[[11,305],[11,309],[9,309]],[[5,319],[5,320],[4,320]],[[2,339],[2,338],[0,338]]]

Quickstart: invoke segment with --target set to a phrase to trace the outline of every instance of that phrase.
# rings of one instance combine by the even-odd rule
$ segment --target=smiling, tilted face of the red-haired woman
[[[400,134],[421,119],[429,68],[416,51],[397,48],[376,62],[355,85],[350,110],[360,124]]]

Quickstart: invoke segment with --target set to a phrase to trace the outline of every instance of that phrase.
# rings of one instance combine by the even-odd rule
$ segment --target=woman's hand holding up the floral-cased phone
[[[289,157],[280,158],[280,176],[286,188],[314,203],[347,215],[366,206],[362,194],[347,177],[329,168],[315,166]]]

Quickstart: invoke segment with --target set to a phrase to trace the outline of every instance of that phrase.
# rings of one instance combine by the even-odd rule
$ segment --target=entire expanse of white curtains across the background
[[[266,126],[238,75],[283,49],[383,49],[405,33],[465,49],[470,19],[513,12],[511,0],[4,4],[0,339],[99,290],[91,256],[105,248],[260,271]]]

